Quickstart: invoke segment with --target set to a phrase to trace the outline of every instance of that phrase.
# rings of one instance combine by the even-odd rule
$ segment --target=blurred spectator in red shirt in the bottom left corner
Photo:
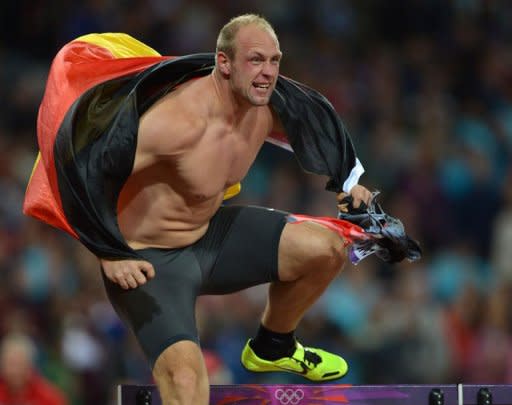
[[[10,334],[0,345],[0,405],[67,405],[64,394],[34,366],[29,337]]]

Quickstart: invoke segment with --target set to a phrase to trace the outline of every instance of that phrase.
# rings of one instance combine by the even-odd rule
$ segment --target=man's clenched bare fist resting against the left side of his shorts
[[[125,290],[137,288],[155,277],[153,265],[143,260],[100,259],[100,263],[107,278]]]

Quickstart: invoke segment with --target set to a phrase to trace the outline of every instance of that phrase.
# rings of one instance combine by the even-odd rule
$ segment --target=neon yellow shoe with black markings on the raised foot
[[[297,347],[292,357],[277,360],[264,360],[256,355],[249,345],[242,351],[242,365],[249,371],[269,372],[285,371],[299,374],[311,381],[330,381],[343,377],[348,372],[348,365],[342,357],[313,347],[304,347],[296,342]]]

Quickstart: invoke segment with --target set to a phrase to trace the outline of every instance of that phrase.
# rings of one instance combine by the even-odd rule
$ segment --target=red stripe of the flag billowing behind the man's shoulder
[[[70,42],[59,51],[39,107],[37,138],[41,160],[27,187],[23,204],[26,215],[77,237],[62,209],[53,154],[55,138],[67,111],[93,86],[138,73],[167,59],[170,57],[115,58],[107,49],[84,41]]]

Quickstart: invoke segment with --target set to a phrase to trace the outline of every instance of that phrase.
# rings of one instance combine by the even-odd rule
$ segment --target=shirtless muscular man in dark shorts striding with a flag
[[[305,311],[346,261],[343,241],[287,214],[222,206],[263,142],[282,131],[268,103],[281,60],[264,19],[245,15],[220,32],[211,75],[164,96],[141,118],[136,158],[118,204],[119,226],[147,261],[101,259],[109,298],[148,356],[164,404],[208,404],[194,319],[200,294],[270,282],[257,336],[242,353],[253,371],[313,381],[346,374],[339,356],[296,342]],[[369,203],[360,185],[354,205]],[[342,197],[342,195],[339,195]]]

